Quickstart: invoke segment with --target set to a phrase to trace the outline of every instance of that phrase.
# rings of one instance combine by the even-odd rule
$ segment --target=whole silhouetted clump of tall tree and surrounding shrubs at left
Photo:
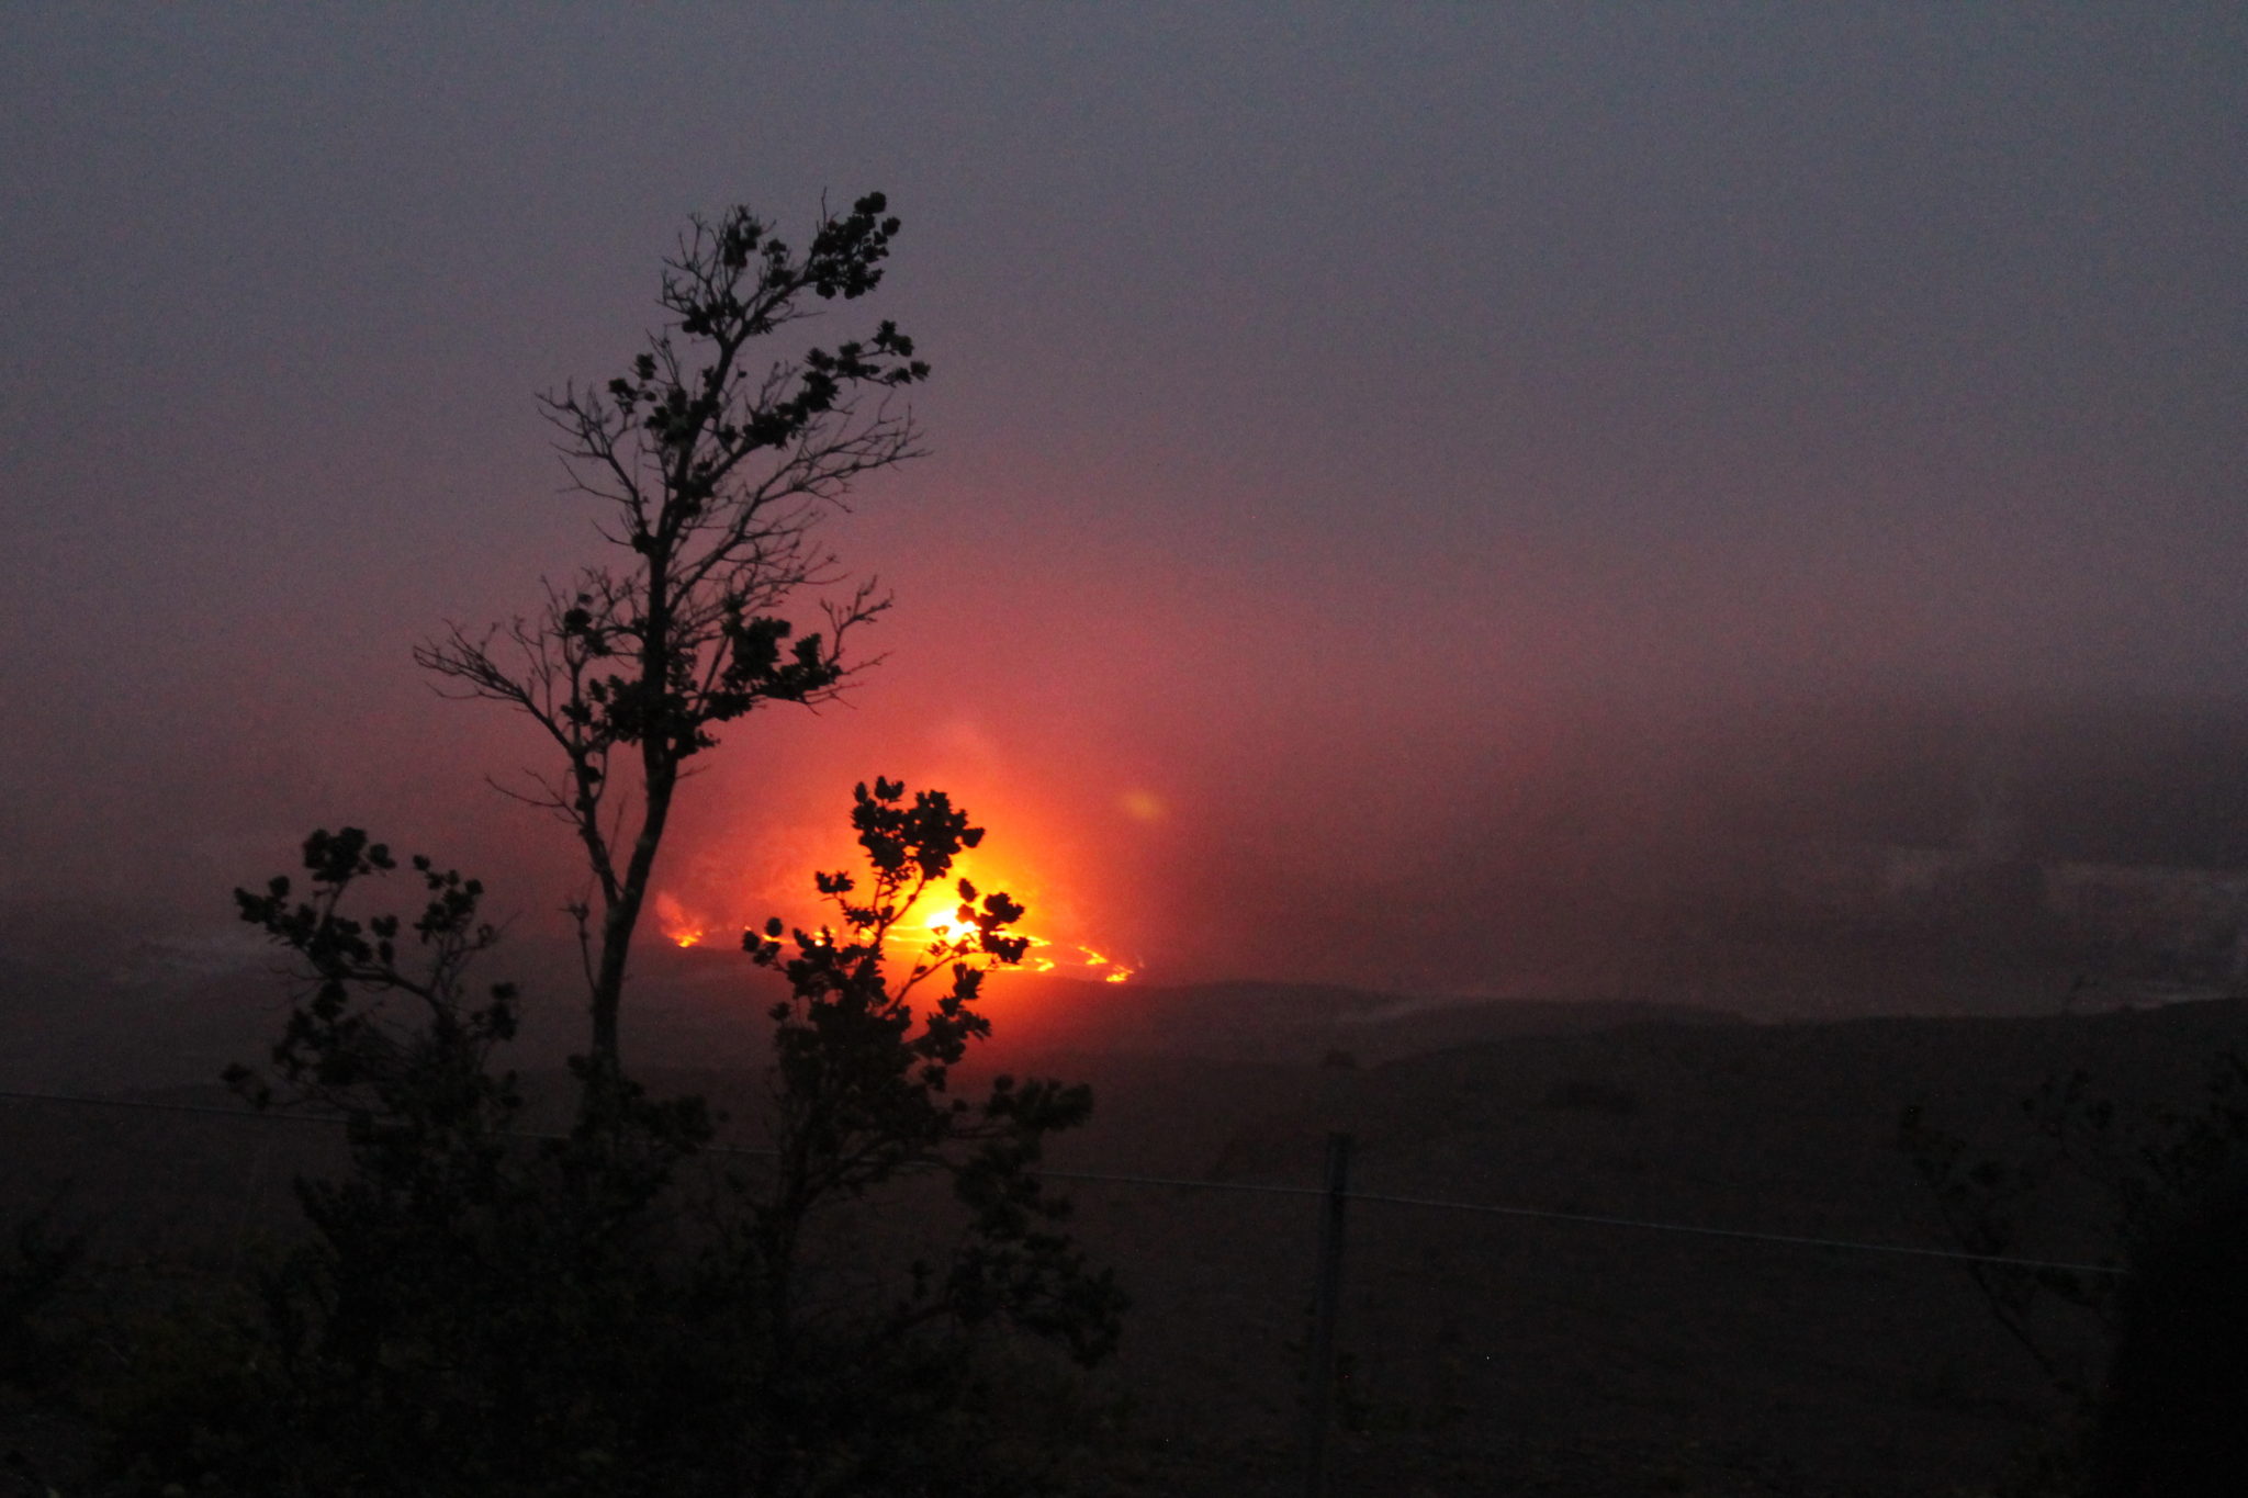
[[[794,359],[753,348],[872,290],[895,231],[879,193],[823,216],[803,254],[746,209],[697,220],[663,276],[672,323],[625,375],[546,402],[629,561],[549,588],[537,620],[416,651],[560,755],[524,800],[571,826],[591,887],[571,910],[589,1040],[569,1127],[526,1127],[535,1100],[504,1067],[517,990],[470,977],[499,939],[479,880],[420,856],[400,869],[342,829],[306,840],[301,885],[236,892],[303,988],[270,1065],[227,1080],[261,1109],[339,1116],[348,1166],[297,1181],[301,1242],[133,1330],[90,1395],[153,1482],[306,1498],[1059,1485],[1079,1410],[1057,1359],[1102,1361],[1124,1298],[1036,1168],[1093,1096],[955,1087],[989,1035],[982,970],[1025,948],[1007,894],[960,880],[960,939],[892,950],[982,829],[944,793],[859,786],[868,871],[816,876],[832,923],[794,932],[794,954],[778,921],[744,937],[744,966],[789,986],[769,1011],[769,1150],[715,1150],[701,1098],[656,1098],[623,1062],[627,957],[683,764],[762,703],[836,694],[843,636],[886,606],[859,588],[807,636],[778,615],[834,575],[812,541],[821,512],[915,451],[910,413],[859,393],[926,366],[892,323]],[[420,910],[366,912],[366,889],[402,871]],[[872,1193],[881,1231],[830,1222]]]

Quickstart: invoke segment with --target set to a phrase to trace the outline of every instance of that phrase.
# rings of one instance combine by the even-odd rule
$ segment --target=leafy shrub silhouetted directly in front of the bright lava
[[[1093,1089],[996,1076],[980,1103],[951,1094],[953,1069],[971,1042],[991,1033],[976,1011],[980,959],[1021,961],[1025,939],[1007,928],[1023,907],[1007,894],[978,894],[958,880],[960,937],[908,954],[901,979],[888,972],[899,919],[937,885],[962,849],[982,840],[942,791],[910,804],[904,786],[877,779],[854,788],[852,826],[870,878],[821,874],[816,887],[841,923],[794,932],[782,957],[780,921],[744,937],[755,961],[789,979],[776,1024],[773,1184],[755,1208],[755,1237],[776,1285],[796,1276],[803,1226],[834,1197],[856,1197],[890,1179],[944,1172],[967,1211],[967,1242],[940,1285],[919,1264],[917,1291],[899,1300],[883,1336],[946,1318],[980,1325],[1003,1318],[1063,1343],[1095,1363],[1115,1348],[1122,1296],[1113,1276],[1093,1273],[1059,1231],[1068,1199],[1036,1175],[1045,1136],[1077,1127],[1093,1112]],[[942,984],[933,1004],[913,1008],[924,984]],[[776,1305],[791,1305],[782,1294]],[[791,1327],[780,1327],[787,1345]]]

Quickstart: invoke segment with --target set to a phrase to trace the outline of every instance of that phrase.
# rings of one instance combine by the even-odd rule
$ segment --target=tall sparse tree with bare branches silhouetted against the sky
[[[571,826],[591,892],[571,905],[591,999],[589,1105],[623,1078],[625,963],[681,770],[715,728],[760,703],[832,698],[856,669],[845,636],[888,600],[861,584],[798,636],[778,613],[841,577],[818,521],[856,478],[919,456],[901,386],[928,377],[913,339],[863,339],[764,359],[758,339],[874,290],[890,236],[881,193],[821,211],[798,254],[749,209],[690,222],[665,261],[665,328],[602,389],[546,395],[575,492],[620,557],[546,584],[535,618],[452,627],[416,663],[461,696],[528,714],[560,770],[510,791]]]

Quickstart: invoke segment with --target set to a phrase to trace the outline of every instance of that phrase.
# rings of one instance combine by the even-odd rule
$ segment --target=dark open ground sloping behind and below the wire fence
[[[1344,1130],[1360,1193],[1929,1246],[1945,1237],[1893,1145],[1906,1103],[1994,1141],[2019,1130],[2014,1098],[2077,1065],[2120,1096],[2192,1103],[2208,1058],[2248,1033],[2237,1002],[1792,1024],[1592,1004],[1369,1020],[1369,995],[1248,986],[1198,1004],[1236,1020],[1209,1020],[1223,1044],[1203,1056],[1003,1040],[1000,1065],[1097,1087],[1057,1170],[1304,1188]],[[710,1024],[697,1013],[681,1033]],[[1241,1058],[1259,1031],[1272,1060]],[[1356,1065],[1329,1056],[1335,1035],[1358,1040]],[[663,1085],[731,1094],[751,1127],[740,1071]],[[135,1096],[225,1105],[211,1087]],[[227,1269],[245,1233],[288,1228],[288,1177],[333,1157],[312,1123],[0,1103],[11,1197],[70,1179],[65,1211],[101,1224],[106,1262],[160,1264],[88,1294]],[[1128,1410],[1093,1489],[1299,1491],[1317,1199],[1075,1193],[1135,1298],[1093,1381]],[[2095,1246],[2066,1222],[2032,1244]],[[1338,1496],[1971,1494],[2064,1415],[1954,1264],[1445,1206],[1351,1206],[1340,1345]],[[88,1435],[52,1404],[0,1404],[0,1449],[22,1455],[0,1494],[97,1491]]]

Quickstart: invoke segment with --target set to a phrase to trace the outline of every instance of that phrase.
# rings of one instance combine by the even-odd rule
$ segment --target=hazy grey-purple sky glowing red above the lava
[[[2248,766],[2203,732],[2248,681],[2239,7],[0,36],[16,921],[223,925],[348,822],[551,923],[566,833],[486,784],[535,739],[409,651],[596,557],[533,395],[629,362],[686,218],[870,189],[935,366],[931,456],[827,530],[886,660],[710,757],[659,876],[699,921],[881,773],[1149,975],[1475,988],[1569,878],[1693,880],[1774,809],[1942,838],[1956,784],[1879,813],[1938,748]]]

